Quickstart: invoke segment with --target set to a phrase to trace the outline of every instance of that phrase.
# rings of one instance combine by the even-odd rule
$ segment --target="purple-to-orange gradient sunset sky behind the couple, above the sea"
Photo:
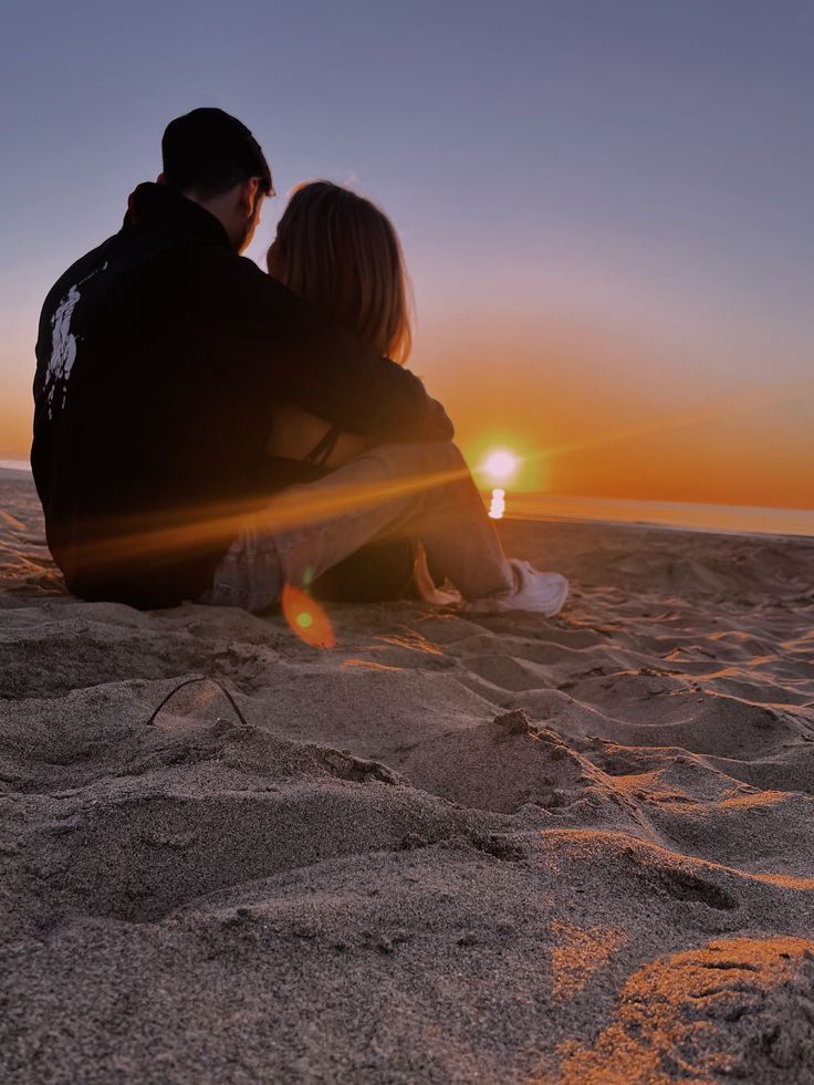
[[[27,453],[51,283],[167,121],[219,105],[279,192],[325,176],[390,213],[410,365],[470,458],[814,507],[812,101],[811,0],[1,0],[0,456]]]

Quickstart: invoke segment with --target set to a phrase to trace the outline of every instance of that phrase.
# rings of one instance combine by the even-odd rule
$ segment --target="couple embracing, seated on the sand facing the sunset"
[[[167,127],[164,171],[45,300],[31,461],[51,552],[86,599],[261,612],[320,598],[555,614],[507,559],[410,347],[396,231],[327,181],[292,196],[268,274],[240,253],[273,195],[220,109]]]

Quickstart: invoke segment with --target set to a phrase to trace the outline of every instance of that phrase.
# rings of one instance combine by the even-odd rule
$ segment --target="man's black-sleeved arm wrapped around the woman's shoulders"
[[[268,373],[273,399],[375,441],[451,439],[443,407],[413,373],[377,357],[250,260],[221,259],[228,263],[205,289],[209,321],[230,344],[232,362]]]

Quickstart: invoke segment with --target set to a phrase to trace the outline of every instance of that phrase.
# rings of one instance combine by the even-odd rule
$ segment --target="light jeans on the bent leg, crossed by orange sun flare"
[[[316,482],[274,495],[215,572],[217,606],[264,611],[285,584],[307,587],[366,543],[420,539],[436,577],[467,599],[510,591],[512,570],[451,441],[379,445]]]

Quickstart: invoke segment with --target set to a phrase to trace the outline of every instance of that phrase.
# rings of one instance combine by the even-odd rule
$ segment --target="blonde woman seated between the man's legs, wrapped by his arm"
[[[369,200],[331,181],[301,185],[267,254],[269,274],[344,324],[383,358],[404,365],[411,347],[409,285],[398,234]],[[312,481],[368,446],[293,404],[272,415],[267,452],[275,486]],[[375,602],[405,595],[443,603],[424,549],[410,539],[368,544],[313,585],[320,598]]]

